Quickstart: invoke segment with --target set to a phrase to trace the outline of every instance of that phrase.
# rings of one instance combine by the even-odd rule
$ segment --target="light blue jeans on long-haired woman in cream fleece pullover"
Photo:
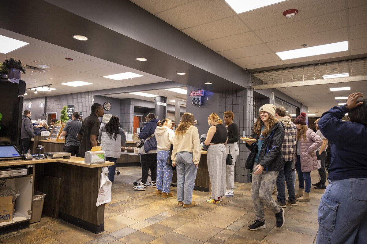
[[[177,201],[190,204],[195,187],[197,167],[192,161],[192,153],[178,152],[176,157]]]

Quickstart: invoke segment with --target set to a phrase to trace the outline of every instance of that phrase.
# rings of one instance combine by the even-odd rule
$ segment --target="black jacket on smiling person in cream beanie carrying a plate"
[[[252,137],[259,139],[259,136],[252,131]],[[279,171],[283,166],[283,157],[281,155],[281,145],[284,139],[284,125],[283,123],[276,123],[268,135],[264,138],[261,151],[259,154],[259,164],[267,171]],[[246,160],[246,165],[254,164],[255,155],[257,153],[257,142],[250,146],[246,143],[246,147],[251,150]]]

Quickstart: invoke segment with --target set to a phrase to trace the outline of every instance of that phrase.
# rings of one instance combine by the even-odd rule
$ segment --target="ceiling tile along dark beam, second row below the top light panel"
[[[259,40],[259,38],[257,38],[256,35],[251,31],[203,42],[204,45],[215,52],[233,48],[241,48],[244,46],[251,46],[260,43],[261,40]]]

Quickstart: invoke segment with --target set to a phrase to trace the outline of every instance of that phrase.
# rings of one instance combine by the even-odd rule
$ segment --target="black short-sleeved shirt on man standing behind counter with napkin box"
[[[84,158],[84,154],[86,151],[90,151],[92,149],[90,143],[91,135],[99,135],[99,127],[101,126],[101,121],[99,121],[97,115],[91,113],[90,116],[86,117],[81,124],[81,128],[78,134],[81,135],[80,145],[79,145],[79,156]]]

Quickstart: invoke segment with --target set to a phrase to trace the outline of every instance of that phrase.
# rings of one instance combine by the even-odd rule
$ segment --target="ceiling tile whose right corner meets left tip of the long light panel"
[[[243,48],[225,50],[218,53],[223,57],[225,57],[226,59],[231,60],[231,59],[239,59],[241,57],[250,57],[255,55],[272,53],[272,50],[270,50],[265,44],[258,44],[253,46],[246,46]]]

